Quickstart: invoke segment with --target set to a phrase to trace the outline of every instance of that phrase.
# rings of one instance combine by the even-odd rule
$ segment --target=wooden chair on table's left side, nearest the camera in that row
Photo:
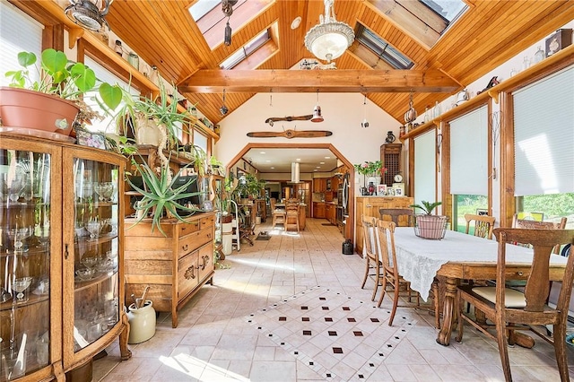
[[[395,319],[396,307],[398,307],[398,300],[401,291],[408,293],[408,300],[411,301],[411,283],[404,280],[398,271],[396,263],[396,248],[395,248],[395,228],[394,221],[377,221],[378,230],[378,256],[380,256],[380,263],[382,264],[382,274],[379,279],[382,286],[381,295],[378,298],[378,308],[385,298],[387,287],[390,287],[393,293],[393,308],[391,310],[391,317],[388,319],[388,326],[393,325]],[[435,326],[440,327],[440,311],[439,311],[439,284],[435,279],[431,287],[432,307],[434,311]],[[420,296],[417,293],[416,307],[420,307]],[[413,307],[413,305],[407,305]]]

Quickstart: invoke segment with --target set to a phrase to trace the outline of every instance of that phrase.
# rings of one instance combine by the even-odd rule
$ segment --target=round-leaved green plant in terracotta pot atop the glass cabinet
[[[37,65],[37,57],[20,52],[18,62],[23,69],[8,71],[9,87],[0,87],[0,114],[4,126],[25,127],[69,135],[78,112],[86,109],[82,96],[87,91],[98,91],[100,103],[116,109],[121,101],[121,88],[100,82],[93,70],[83,63],[74,63],[56,49],[44,50]],[[39,80],[30,78],[30,67]],[[90,114],[90,113],[87,113]]]

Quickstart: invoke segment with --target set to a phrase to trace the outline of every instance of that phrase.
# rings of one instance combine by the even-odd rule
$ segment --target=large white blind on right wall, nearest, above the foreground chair
[[[512,96],[515,195],[574,192],[574,66]]]

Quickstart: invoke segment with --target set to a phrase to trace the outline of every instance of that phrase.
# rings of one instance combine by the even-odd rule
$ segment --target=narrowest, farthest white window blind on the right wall
[[[435,142],[435,130],[414,138],[414,204],[421,204],[423,200],[436,200]]]

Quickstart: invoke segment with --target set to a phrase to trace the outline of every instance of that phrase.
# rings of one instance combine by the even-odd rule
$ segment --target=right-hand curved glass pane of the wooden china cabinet
[[[119,320],[117,165],[74,158],[74,352]]]

